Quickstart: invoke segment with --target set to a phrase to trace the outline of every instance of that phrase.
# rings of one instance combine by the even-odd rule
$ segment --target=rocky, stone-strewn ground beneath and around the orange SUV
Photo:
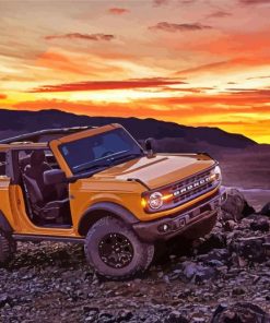
[[[206,239],[174,241],[129,282],[96,277],[82,246],[20,243],[0,322],[270,322],[270,212],[254,213],[232,198]]]

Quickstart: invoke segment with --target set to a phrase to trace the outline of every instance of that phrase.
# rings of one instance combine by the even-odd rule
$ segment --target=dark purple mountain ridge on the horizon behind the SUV
[[[0,109],[0,139],[42,129],[107,123],[121,123],[138,140],[151,136],[161,142],[166,139],[171,146],[169,151],[176,152],[180,147],[181,149],[185,147],[185,151],[198,151],[200,147],[208,148],[209,146],[246,148],[258,145],[242,134],[227,133],[219,128],[186,127],[155,119],[87,117],[55,109],[40,111]],[[174,139],[177,139],[178,142]]]

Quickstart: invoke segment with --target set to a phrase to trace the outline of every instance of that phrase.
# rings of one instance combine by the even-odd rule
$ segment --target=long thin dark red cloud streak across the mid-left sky
[[[159,87],[175,84],[186,84],[176,79],[130,79],[124,81],[90,81],[59,85],[45,85],[34,88],[32,93],[43,92],[73,92],[73,91],[105,91],[105,89],[128,89],[128,88],[145,88]]]

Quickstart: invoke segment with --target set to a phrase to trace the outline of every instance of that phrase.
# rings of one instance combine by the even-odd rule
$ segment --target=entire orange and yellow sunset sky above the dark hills
[[[270,143],[270,0],[0,0],[0,108]]]

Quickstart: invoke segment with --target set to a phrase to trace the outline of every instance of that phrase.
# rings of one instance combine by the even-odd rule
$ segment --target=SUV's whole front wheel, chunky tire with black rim
[[[127,279],[144,272],[154,255],[153,244],[140,241],[131,228],[111,216],[94,224],[84,250],[96,272],[110,279]]]

